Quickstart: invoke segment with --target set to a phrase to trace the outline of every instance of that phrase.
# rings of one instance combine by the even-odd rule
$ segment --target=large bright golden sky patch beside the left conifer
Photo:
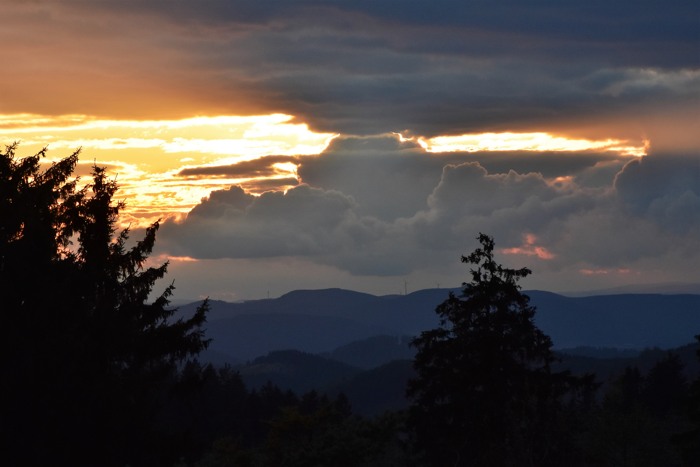
[[[266,155],[315,155],[337,135],[311,131],[285,114],[198,116],[179,120],[112,120],[89,115],[0,114],[0,144],[20,142],[21,155],[49,148],[52,162],[82,148],[76,170],[84,180],[93,163],[107,166],[126,201],[122,223],[150,224],[181,216],[212,190],[250,184],[257,176],[182,177],[187,166],[225,166]],[[293,163],[275,175],[296,177]],[[254,183],[253,183],[254,184]],[[287,185],[283,185],[283,188]]]

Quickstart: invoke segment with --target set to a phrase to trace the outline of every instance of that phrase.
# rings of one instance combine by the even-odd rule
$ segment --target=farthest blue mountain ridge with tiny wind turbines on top
[[[449,291],[426,289],[408,295],[374,296],[342,289],[299,290],[277,299],[213,301],[206,325],[207,336],[213,339],[210,351],[219,362],[224,356],[235,362],[281,349],[332,352],[369,339],[365,347],[341,349],[338,352],[345,356],[336,355],[367,368],[393,359],[391,352],[397,350],[377,350],[377,358],[371,361],[372,350],[367,345],[379,349],[381,342],[398,342],[401,336],[416,336],[436,327],[435,307]],[[688,344],[700,334],[700,295],[566,297],[544,291],[525,293],[537,307],[537,325],[559,349],[672,348]],[[196,305],[185,305],[179,313],[191,313]],[[389,341],[373,341],[377,336]],[[365,357],[360,358],[362,352]]]

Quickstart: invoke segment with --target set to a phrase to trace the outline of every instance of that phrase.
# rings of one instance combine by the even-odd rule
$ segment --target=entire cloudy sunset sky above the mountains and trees
[[[700,283],[695,0],[0,0],[0,144],[105,166],[176,298]]]

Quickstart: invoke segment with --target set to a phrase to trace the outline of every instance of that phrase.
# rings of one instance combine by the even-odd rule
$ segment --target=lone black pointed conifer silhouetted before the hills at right
[[[571,465],[563,398],[578,380],[550,369],[552,342],[518,285],[530,270],[501,266],[493,239],[478,239],[462,257],[472,281],[437,307],[440,327],[413,340],[416,447],[435,466]]]

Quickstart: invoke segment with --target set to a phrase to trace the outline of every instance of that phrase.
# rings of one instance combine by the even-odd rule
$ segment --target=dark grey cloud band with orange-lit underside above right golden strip
[[[342,60],[342,59],[341,59]],[[697,102],[698,73],[682,77],[682,87],[667,86],[681,72],[668,72],[655,85],[625,88],[629,74],[619,73],[608,88],[589,84],[590,70],[564,65],[574,76],[557,76],[553,64],[534,66],[508,58],[489,64],[448,64],[447,58],[416,57],[423,70],[416,73],[361,74],[295,73],[261,78],[264,89],[285,96],[290,112],[323,131],[373,134],[410,129],[428,136],[481,131],[532,131],[559,127],[571,131],[585,120],[655,112],[655,106]],[[443,66],[451,69],[441,69]],[[574,69],[570,69],[574,68]],[[593,72],[596,73],[596,72]],[[578,75],[577,75],[578,74]],[[615,74],[615,73],[612,73]],[[637,80],[643,82],[643,79]],[[611,89],[621,88],[620,93]],[[277,94],[275,94],[277,96]],[[268,97],[260,95],[265,101]],[[610,133],[615,129],[609,129]],[[609,134],[610,134],[609,133]],[[640,133],[623,137],[639,138]]]

